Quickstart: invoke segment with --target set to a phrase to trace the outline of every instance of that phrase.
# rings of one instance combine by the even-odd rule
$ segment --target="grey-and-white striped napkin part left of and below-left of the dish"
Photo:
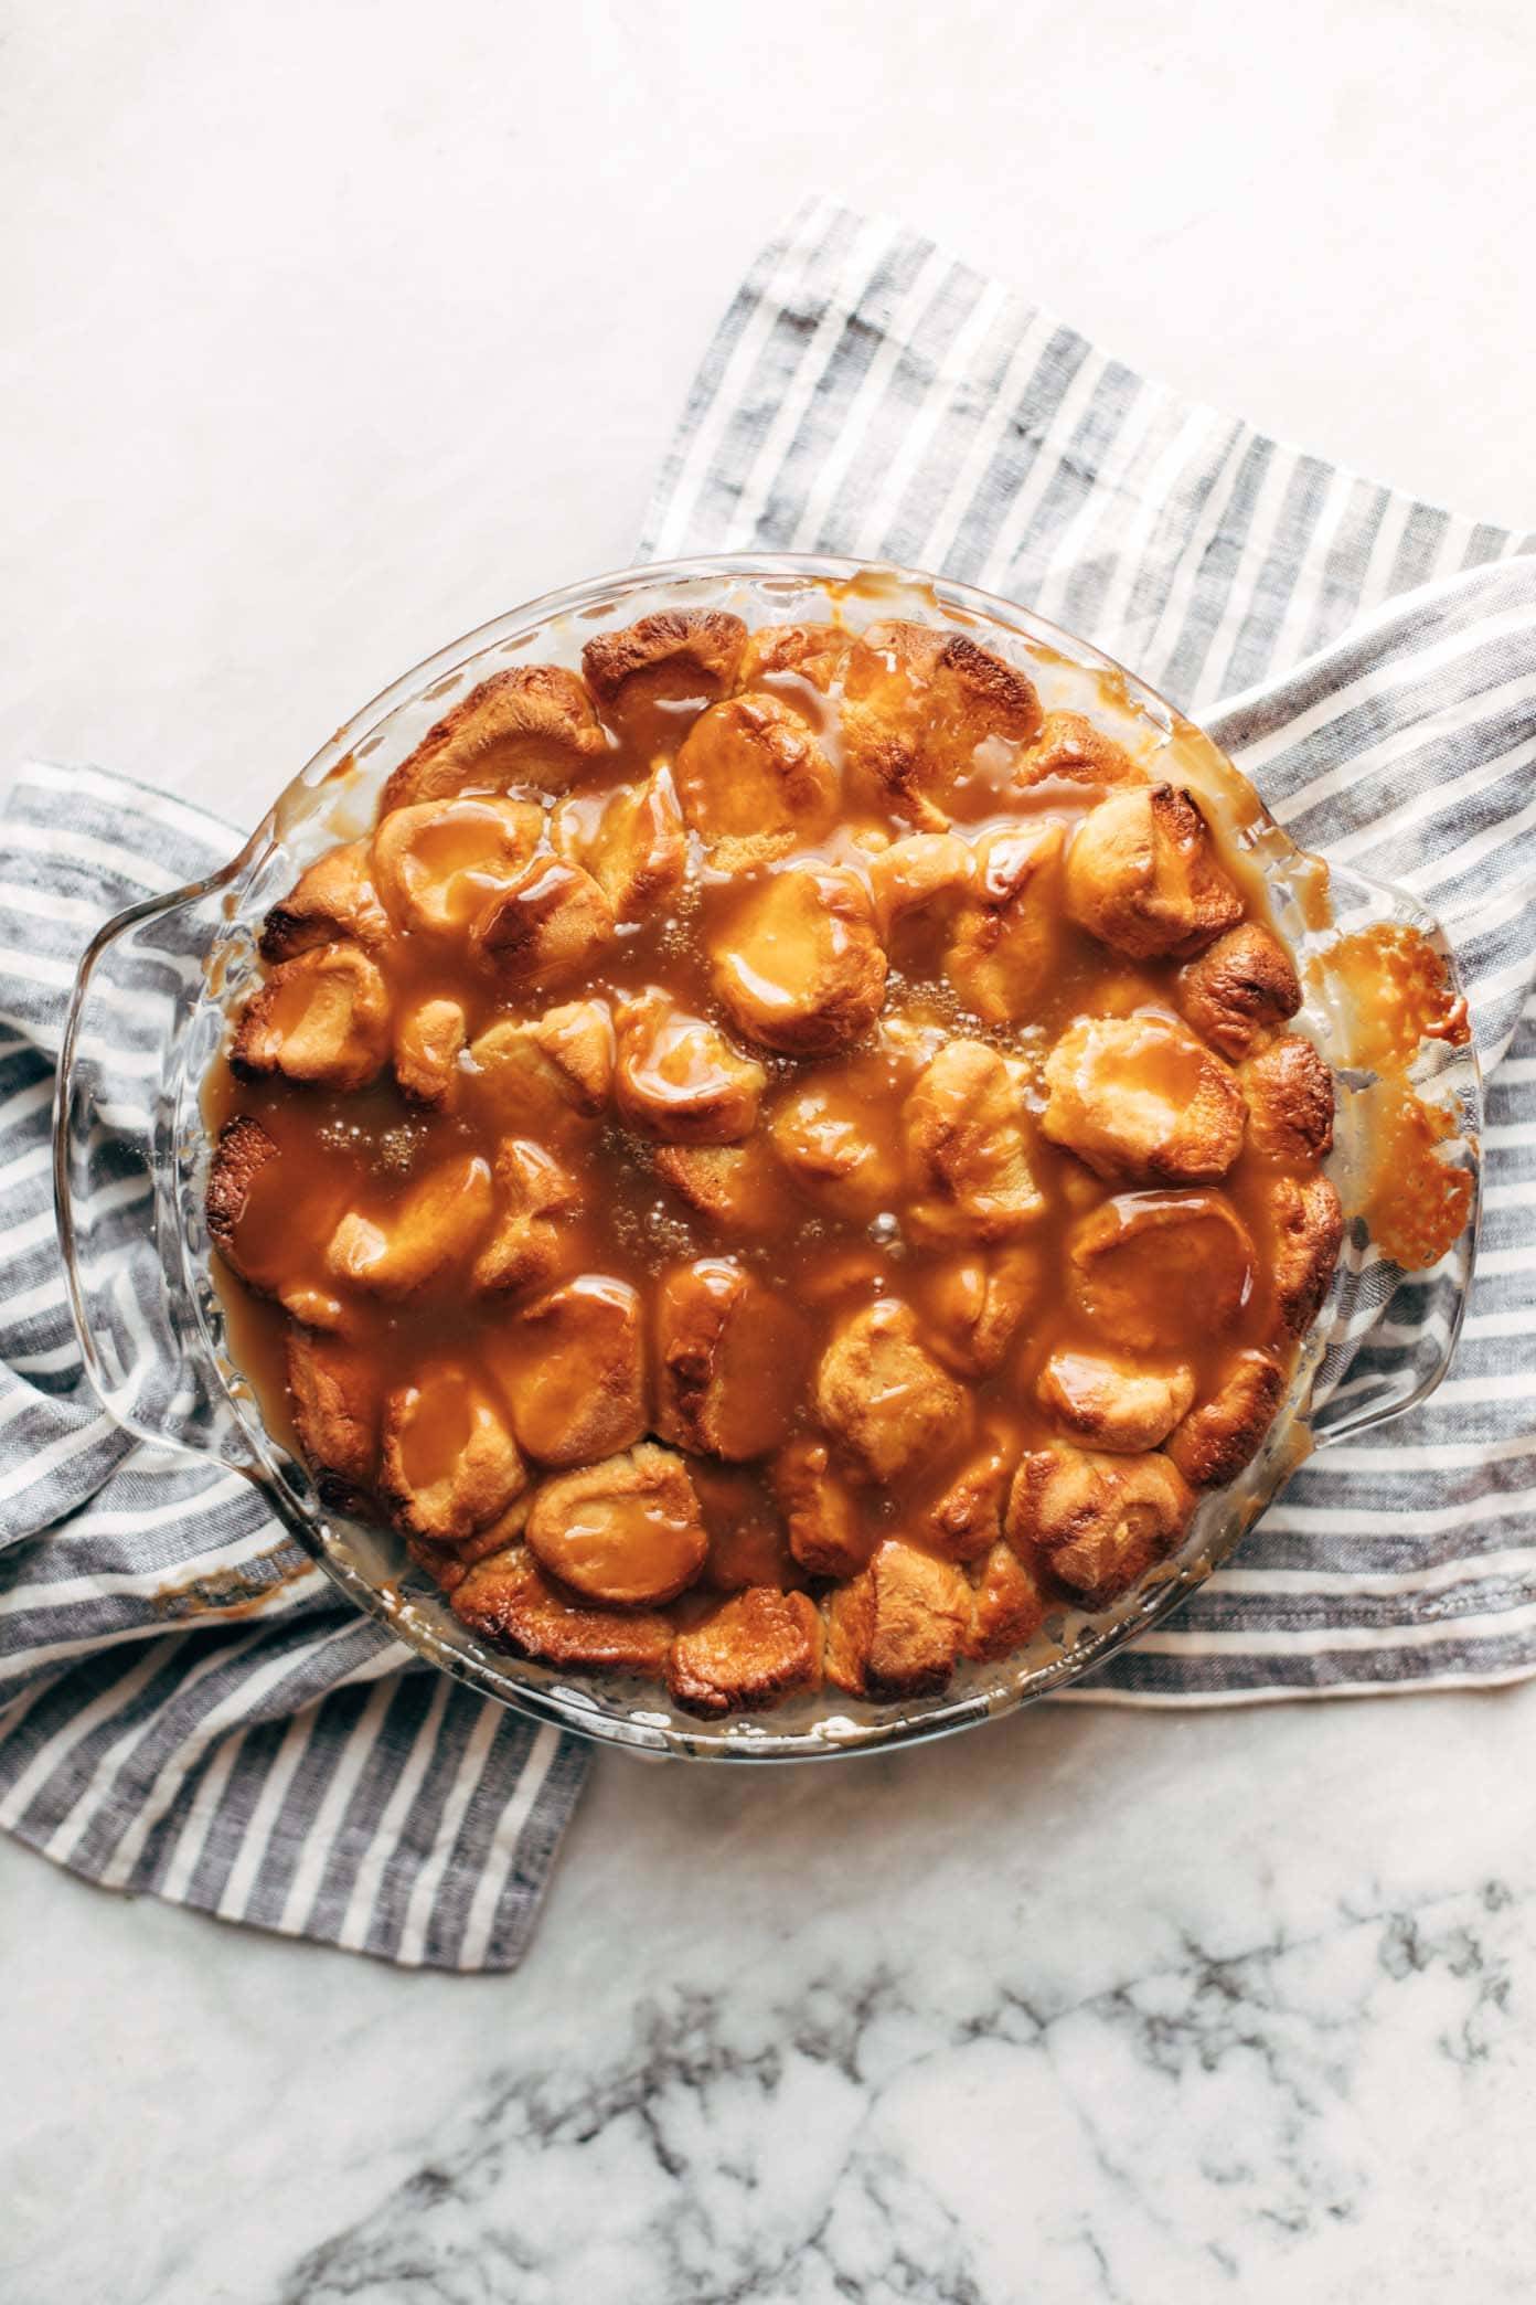
[[[108,1888],[507,1968],[585,1749],[419,1667],[249,1482],[131,1443],[81,1376],[48,1166],[67,991],[108,913],[235,846],[94,770],[25,768],[0,816],[0,1826]],[[127,1176],[122,1219],[143,1201]]]

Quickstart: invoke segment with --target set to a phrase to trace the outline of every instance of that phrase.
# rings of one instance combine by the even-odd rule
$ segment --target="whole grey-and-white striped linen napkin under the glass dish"
[[[642,556],[746,546],[942,567],[1124,657],[1297,839],[1451,922],[1497,1065],[1453,1378],[1306,1466],[1241,1565],[1078,1694],[1534,1671],[1536,537],[1179,401],[930,242],[813,203],[709,346]],[[0,814],[0,1826],[106,1885],[509,1968],[583,1747],[415,1667],[237,1475],[115,1434],[69,1332],[48,1104],[74,963],[233,844],[97,770],[28,768]],[[1412,1337],[1412,1291],[1393,1321]]]

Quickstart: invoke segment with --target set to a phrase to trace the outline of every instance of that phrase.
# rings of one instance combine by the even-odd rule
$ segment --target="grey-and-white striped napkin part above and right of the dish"
[[[1488,1187],[1451,1378],[1308,1464],[1078,1699],[1534,1671],[1536,537],[1191,406],[933,242],[813,201],[725,313],[645,528],[647,558],[753,546],[942,569],[1087,634],[1200,712],[1294,839],[1430,904],[1472,987]],[[1349,1383],[1412,1351],[1421,1293]]]

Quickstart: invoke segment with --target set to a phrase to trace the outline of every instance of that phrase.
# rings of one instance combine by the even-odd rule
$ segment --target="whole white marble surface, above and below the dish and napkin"
[[[629,558],[808,187],[1184,390],[1536,526],[1527,0],[14,0],[0,765],[249,821]],[[606,1759],[520,1975],[0,1844],[25,2305],[1529,2296],[1536,1690]]]

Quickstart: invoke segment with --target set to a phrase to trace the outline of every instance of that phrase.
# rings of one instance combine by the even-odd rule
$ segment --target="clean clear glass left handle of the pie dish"
[[[134,1438],[256,1471],[212,1348],[198,1081],[237,864],[117,913],[85,947],[53,1104],[53,1203],[85,1376]],[[196,1212],[196,1215],[193,1215]],[[200,1259],[200,1275],[198,1263]]]

